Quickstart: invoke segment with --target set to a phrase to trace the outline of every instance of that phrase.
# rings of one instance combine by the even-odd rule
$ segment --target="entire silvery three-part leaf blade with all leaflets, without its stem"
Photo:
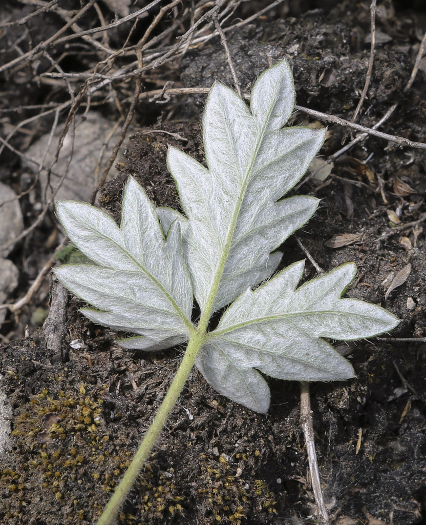
[[[261,373],[347,379],[354,376],[352,366],[324,338],[367,338],[398,324],[374,304],[342,299],[354,264],[299,288],[303,261],[271,278],[281,259],[274,250],[318,205],[315,197],[283,198],[324,140],[324,130],[283,128],[293,106],[285,61],[259,77],[250,108],[215,83],[203,120],[206,166],[175,148],[168,151],[183,214],[156,210],[132,177],[120,227],[88,204],[57,205],[72,243],[94,263],[56,270],[93,307],[83,308],[84,315],[134,333],[121,342],[126,348],[156,350],[189,341],[190,366],[198,356],[196,366],[212,387],[258,412],[270,403]],[[191,322],[193,290],[201,310],[197,325]],[[210,317],[227,305],[209,332]]]

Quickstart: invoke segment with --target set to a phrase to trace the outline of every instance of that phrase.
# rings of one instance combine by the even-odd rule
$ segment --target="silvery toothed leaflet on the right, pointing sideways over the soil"
[[[248,289],[208,334],[198,369],[221,394],[257,412],[267,412],[269,388],[257,369],[277,379],[332,381],[355,375],[352,365],[322,338],[372,337],[395,328],[387,310],[356,299],[340,299],[356,275],[348,263],[297,283],[304,261]]]

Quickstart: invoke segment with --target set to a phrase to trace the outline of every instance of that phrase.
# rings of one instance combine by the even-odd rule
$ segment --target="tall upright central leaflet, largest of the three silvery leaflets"
[[[269,278],[280,260],[271,252],[316,210],[315,197],[279,200],[324,140],[324,130],[282,129],[293,106],[293,79],[285,61],[255,83],[251,111],[217,82],[203,120],[208,167],[175,148],[168,151],[187,219],[185,255],[201,313],[225,306]]]

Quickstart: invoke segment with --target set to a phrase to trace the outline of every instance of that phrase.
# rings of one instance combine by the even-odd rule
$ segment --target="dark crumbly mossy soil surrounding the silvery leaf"
[[[359,122],[371,127],[398,102],[382,131],[424,141],[425,72],[418,72],[408,92],[404,86],[418,35],[426,30],[426,13],[404,5],[396,9],[377,20],[391,40],[377,46]],[[260,72],[286,57],[293,67],[297,104],[350,120],[368,67],[368,3],[341,2],[323,11],[290,14],[265,16],[227,34],[241,89],[249,92]],[[324,72],[323,79],[331,80],[319,80]],[[176,76],[188,87],[208,87],[215,79],[232,85],[218,40],[191,51]],[[179,206],[165,163],[167,144],[203,161],[199,121],[204,100],[188,96],[183,104],[172,98],[157,109],[159,120],[149,132],[127,141],[118,164],[121,174],[104,185],[99,198],[116,220],[130,174],[155,204]],[[291,123],[313,121],[299,111]],[[327,158],[341,147],[344,131],[328,125],[321,155]],[[399,341],[385,334],[387,340],[338,345],[356,379],[311,385],[318,463],[332,522],[424,523],[426,242],[418,219],[426,212],[426,154],[370,137],[341,156],[323,183],[309,181],[298,192],[323,199],[315,217],[297,233],[317,264],[330,270],[355,261],[359,274],[347,296],[395,313],[402,321],[392,338],[423,338]],[[398,224],[389,211],[397,214]],[[47,238],[48,220],[33,237],[41,260],[48,252],[40,240]],[[335,247],[330,241],[337,234],[360,235],[352,244]],[[23,260],[29,249],[25,245],[12,257]],[[306,257],[295,238],[282,250],[283,265]],[[385,300],[392,279],[408,264],[407,280]],[[306,267],[306,278],[314,277],[315,269]],[[22,293],[25,284],[23,279]],[[177,370],[182,349],[148,356],[125,351],[115,343],[115,333],[90,323],[78,313],[79,306],[76,298],[67,299],[60,348],[46,344],[44,331],[31,325],[31,308],[20,319],[8,319],[7,331],[19,334],[14,323],[28,322],[30,335],[0,350],[3,388],[13,409],[10,449],[1,459],[0,522],[5,525],[95,521]],[[299,385],[269,384],[271,408],[268,415],[259,415],[212,391],[194,371],[119,523],[312,521],[315,505],[299,424]]]

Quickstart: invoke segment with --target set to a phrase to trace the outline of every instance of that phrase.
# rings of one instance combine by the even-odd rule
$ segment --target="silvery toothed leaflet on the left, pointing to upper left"
[[[131,348],[167,348],[189,338],[193,296],[182,256],[179,225],[164,238],[157,214],[130,177],[121,226],[86,203],[62,201],[57,214],[74,245],[95,265],[64,265],[63,284],[94,309],[92,321],[143,337],[121,342]]]

